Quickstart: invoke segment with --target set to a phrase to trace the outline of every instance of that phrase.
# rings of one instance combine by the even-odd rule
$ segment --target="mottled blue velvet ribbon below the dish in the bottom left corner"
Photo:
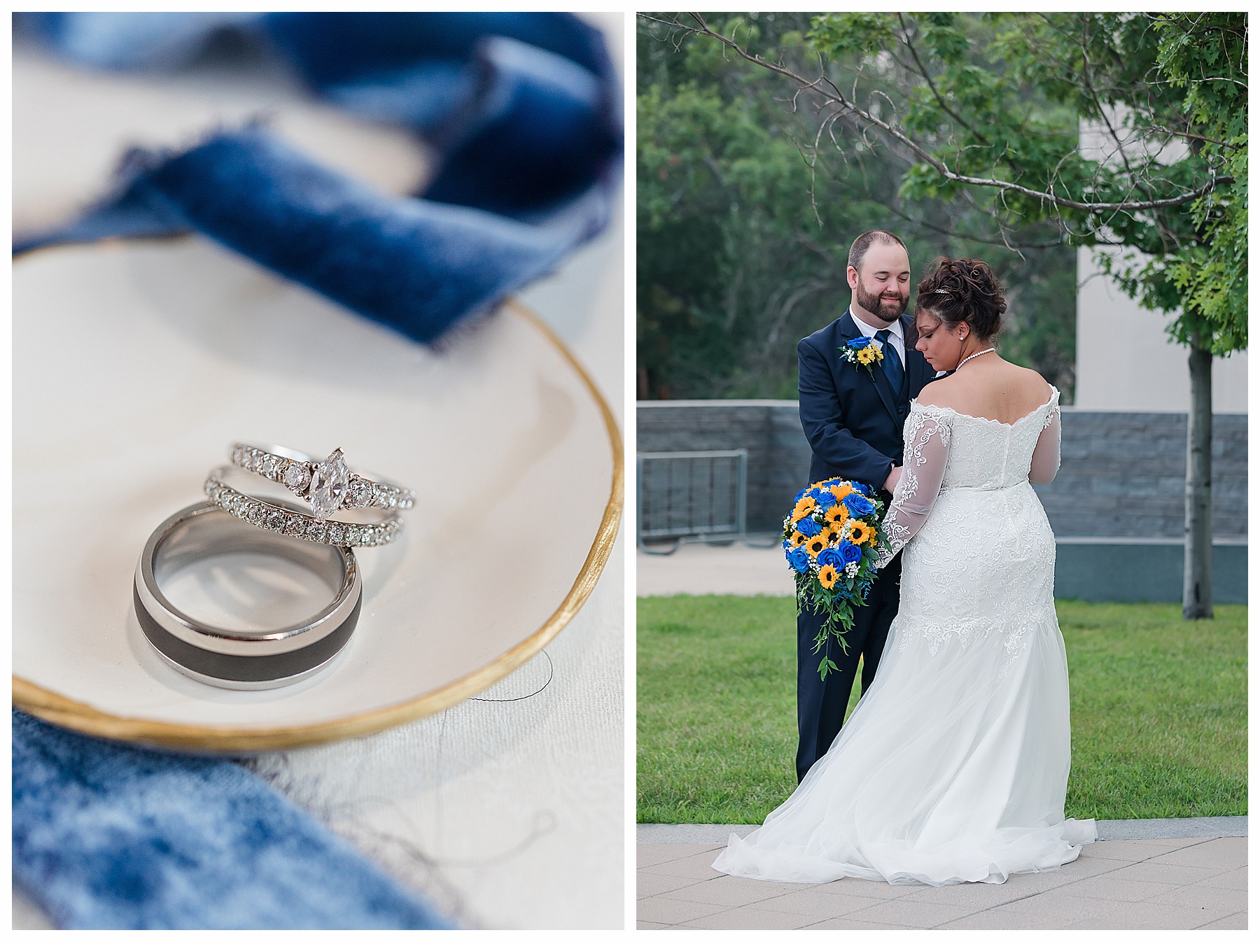
[[[13,877],[60,928],[451,928],[239,764],[18,710]]]

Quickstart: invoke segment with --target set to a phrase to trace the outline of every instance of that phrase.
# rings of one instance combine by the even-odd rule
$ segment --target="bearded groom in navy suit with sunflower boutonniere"
[[[828,477],[861,481],[881,491],[887,509],[901,476],[901,429],[910,400],[936,373],[915,350],[919,334],[905,314],[910,301],[910,256],[891,232],[864,232],[849,248],[849,310],[796,345],[800,363],[800,424],[813,450],[809,482]],[[848,363],[839,348],[868,336],[883,351],[871,372]],[[901,555],[876,577],[867,604],[854,610],[845,635],[848,654],[839,644],[814,654],[814,637],[823,616],[801,608],[796,613],[796,778],[805,777],[840,732],[849,691],[862,657],[862,691],[871,686],[888,626],[901,599]],[[819,680],[818,665],[828,654],[838,670]]]

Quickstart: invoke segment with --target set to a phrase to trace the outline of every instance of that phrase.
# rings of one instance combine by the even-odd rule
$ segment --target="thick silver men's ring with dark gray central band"
[[[251,552],[310,569],[333,591],[333,599],[296,625],[247,632],[194,618],[161,589],[171,574],[200,559]],[[145,637],[181,674],[214,686],[270,689],[328,666],[354,632],[362,584],[352,550],[289,539],[199,502],[164,520],[145,543],[132,601]]]

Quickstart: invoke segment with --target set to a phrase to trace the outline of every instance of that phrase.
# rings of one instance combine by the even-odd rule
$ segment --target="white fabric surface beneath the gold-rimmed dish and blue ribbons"
[[[621,59],[622,18],[598,18]],[[398,135],[300,101],[273,77],[159,82],[14,57],[14,217],[47,223],[98,195],[123,142],[178,145],[261,107],[309,152],[404,191],[425,161]],[[54,117],[55,116],[55,117]],[[624,237],[609,230],[520,300],[622,414]],[[20,351],[15,351],[20,355]],[[547,651],[478,700],[364,739],[252,761],[470,927],[620,928],[624,909],[624,534]],[[513,700],[543,688],[533,696]],[[14,928],[47,927],[14,894]]]

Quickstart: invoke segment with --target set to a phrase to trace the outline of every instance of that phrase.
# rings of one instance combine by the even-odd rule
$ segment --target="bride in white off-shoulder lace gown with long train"
[[[920,285],[919,349],[936,370],[911,404],[885,519],[905,552],[901,608],[869,690],[765,824],[714,869],[825,883],[944,885],[1055,869],[1096,839],[1063,819],[1067,660],[1055,535],[1029,481],[1058,471],[1058,390],[993,346],[1005,301],[984,262]]]

